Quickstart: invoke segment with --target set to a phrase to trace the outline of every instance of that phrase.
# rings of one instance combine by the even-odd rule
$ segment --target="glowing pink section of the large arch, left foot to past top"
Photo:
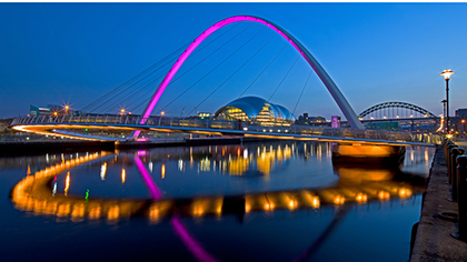
[[[177,73],[177,71],[180,69],[181,64],[183,64],[185,60],[187,60],[187,58],[191,54],[191,52],[206,39],[208,38],[211,33],[216,32],[218,29],[232,23],[232,22],[239,22],[239,21],[255,21],[255,22],[259,22],[262,24],[266,24],[267,27],[271,28],[272,30],[275,30],[276,32],[278,32],[280,36],[282,36],[287,41],[289,41],[295,49],[298,50],[298,52],[306,59],[306,61],[308,61],[308,63],[310,63],[310,61],[306,58],[306,56],[304,54],[304,52],[300,50],[300,48],[291,40],[289,39],[282,31],[280,31],[279,29],[277,29],[275,26],[272,26],[271,23],[259,19],[259,18],[255,18],[255,17],[247,17],[247,16],[241,16],[241,17],[231,17],[231,18],[227,18],[223,19],[217,23],[215,23],[213,26],[211,26],[210,28],[208,28],[205,32],[202,32],[186,50],[185,52],[180,56],[180,58],[177,60],[177,62],[172,66],[172,68],[170,69],[170,71],[166,74],[166,77],[163,78],[162,82],[159,84],[158,89],[156,90],[156,93],[152,95],[151,101],[149,102],[149,104],[147,105],[146,110],[143,111],[142,114],[142,119],[140,121],[140,124],[145,124],[148,121],[149,115],[151,114],[152,110],[155,109],[157,102],[159,101],[160,97],[162,95],[163,91],[166,90],[167,85],[169,84],[169,82],[172,80],[173,75]],[[139,132],[135,132],[135,138],[138,138]]]

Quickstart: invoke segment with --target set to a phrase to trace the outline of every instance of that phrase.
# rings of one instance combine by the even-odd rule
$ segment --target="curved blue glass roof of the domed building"
[[[295,121],[294,114],[282,105],[274,104],[265,99],[258,97],[245,97],[234,100],[226,104],[225,107],[220,108],[216,113],[215,118],[222,112],[226,108],[238,108],[248,115],[249,119],[257,118],[259,112],[261,112],[264,107],[269,107],[272,110],[274,117],[276,119]]]

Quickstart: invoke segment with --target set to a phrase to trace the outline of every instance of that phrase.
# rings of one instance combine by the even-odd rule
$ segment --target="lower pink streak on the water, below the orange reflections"
[[[172,224],[173,231],[183,241],[185,245],[187,245],[188,250],[199,260],[202,262],[215,262],[217,261],[205,251],[202,245],[196,241],[193,236],[187,231],[187,229],[183,226],[183,224],[180,222],[180,219],[178,215],[173,215],[173,218],[170,220],[170,223]]]

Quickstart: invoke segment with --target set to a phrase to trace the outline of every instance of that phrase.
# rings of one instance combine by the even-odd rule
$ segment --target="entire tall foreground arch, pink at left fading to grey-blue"
[[[305,58],[305,60],[311,66],[311,68],[315,70],[315,72],[318,74],[318,77],[321,79],[322,83],[327,87],[328,91],[339,105],[340,110],[342,111],[344,115],[347,118],[347,120],[350,123],[350,127],[354,129],[365,129],[361,122],[358,120],[357,115],[355,114],[354,109],[350,107],[350,104],[347,102],[344,94],[340,92],[340,90],[337,88],[336,83],[332,81],[332,79],[328,75],[328,73],[324,70],[324,68],[318,63],[318,61],[311,56],[311,53],[297,40],[295,39],[289,32],[281,29],[277,24],[266,20],[260,19],[252,16],[237,16],[237,17],[230,17],[227,19],[223,19],[210,28],[208,28],[205,32],[202,32],[195,41],[185,50],[185,52],[178,58],[177,62],[172,66],[170,71],[166,74],[162,82],[157,88],[156,92],[153,93],[151,100],[149,101],[148,105],[146,105],[145,111],[142,112],[142,119],[140,121],[140,124],[145,124],[146,121],[148,121],[149,115],[151,114],[152,110],[155,109],[157,102],[159,101],[160,97],[162,95],[163,91],[166,90],[167,85],[172,80],[173,75],[177,73],[177,71],[180,69],[181,64],[183,64],[185,60],[191,54],[191,52],[211,33],[217,31],[218,29],[234,22],[239,21],[254,21],[259,22],[262,24],[266,24],[267,27],[271,28],[276,32],[278,32],[280,36],[282,36],[291,46],[294,46],[295,49]],[[140,131],[135,132],[135,137],[138,137]]]

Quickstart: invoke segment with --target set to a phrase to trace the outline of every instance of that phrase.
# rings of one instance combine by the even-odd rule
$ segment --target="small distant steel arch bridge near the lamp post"
[[[411,118],[415,117],[414,113],[421,114],[419,117],[421,118],[433,118],[436,119],[437,117],[431,113],[430,111],[423,109],[418,105],[406,103],[406,102],[384,102],[376,105],[372,105],[371,108],[362,111],[359,117],[370,117],[370,115],[377,115],[375,112],[382,113],[384,117],[380,115],[380,118],[388,118],[388,119],[398,119],[398,118]],[[377,117],[374,117],[375,119]],[[417,118],[417,117],[415,117]]]

